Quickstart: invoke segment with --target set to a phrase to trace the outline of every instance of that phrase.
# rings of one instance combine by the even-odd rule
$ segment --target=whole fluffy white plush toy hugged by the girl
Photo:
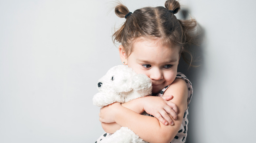
[[[114,102],[125,103],[152,93],[152,82],[144,74],[137,74],[133,69],[118,65],[111,68],[98,80],[98,93],[93,97],[93,104],[99,107]],[[100,143],[147,143],[132,130],[121,127],[114,134],[103,138]]]

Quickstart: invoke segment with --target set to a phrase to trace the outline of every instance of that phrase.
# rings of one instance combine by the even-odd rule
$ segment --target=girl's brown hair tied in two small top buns
[[[127,56],[132,52],[132,44],[138,38],[160,38],[164,45],[179,45],[182,58],[191,65],[193,56],[188,48],[194,44],[196,20],[179,20],[174,14],[180,10],[176,0],[167,0],[164,7],[145,7],[127,16],[124,24],[113,34],[113,41],[121,43]],[[130,11],[118,3],[115,13],[124,18]],[[185,54],[190,56],[187,58]]]

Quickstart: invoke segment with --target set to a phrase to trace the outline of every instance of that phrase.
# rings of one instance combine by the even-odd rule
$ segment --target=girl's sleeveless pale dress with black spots
[[[191,82],[188,80],[188,78],[181,72],[178,72],[177,75],[176,75],[176,78],[181,78],[183,79],[186,84],[187,84],[187,93],[188,93],[188,98],[187,98],[187,109],[185,110],[184,112],[184,116],[183,116],[183,119],[182,119],[182,123],[181,123],[181,127],[177,133],[177,135],[174,137],[174,139],[170,142],[170,143],[185,143],[186,142],[186,137],[187,137],[187,124],[188,124],[188,105],[191,101],[191,97],[193,95],[193,87],[192,87],[192,84]],[[163,93],[165,92],[165,90],[169,87],[170,85],[168,85],[167,87],[164,87],[158,94],[157,96],[159,97],[162,97],[163,96]],[[97,141],[99,142],[100,140],[102,140],[104,137],[106,136],[109,136],[111,134],[109,133],[104,133],[103,135],[101,135]]]

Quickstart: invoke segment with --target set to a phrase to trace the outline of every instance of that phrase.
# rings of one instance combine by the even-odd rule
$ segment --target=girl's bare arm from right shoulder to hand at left
[[[178,107],[177,120],[174,125],[164,125],[157,118],[140,115],[120,103],[113,103],[101,108],[99,114],[101,122],[115,121],[120,126],[128,127],[140,138],[151,143],[169,143],[181,127],[184,111],[187,108],[187,86],[184,80],[176,79],[164,93],[173,95],[171,100]]]

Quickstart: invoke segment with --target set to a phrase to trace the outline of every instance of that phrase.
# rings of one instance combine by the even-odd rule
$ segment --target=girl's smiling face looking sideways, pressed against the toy
[[[152,93],[159,93],[170,85],[177,75],[180,47],[167,47],[160,40],[139,40],[133,44],[133,51],[126,57],[119,48],[122,61],[137,73],[147,75],[152,80]]]

